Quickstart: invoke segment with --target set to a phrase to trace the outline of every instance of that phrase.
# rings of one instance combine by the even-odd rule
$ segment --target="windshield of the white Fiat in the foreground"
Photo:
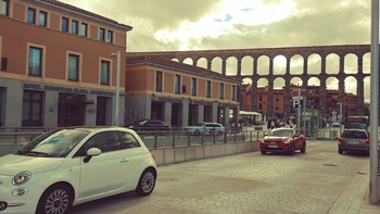
[[[78,129],[53,130],[35,138],[16,154],[34,156],[66,156],[89,131]]]

